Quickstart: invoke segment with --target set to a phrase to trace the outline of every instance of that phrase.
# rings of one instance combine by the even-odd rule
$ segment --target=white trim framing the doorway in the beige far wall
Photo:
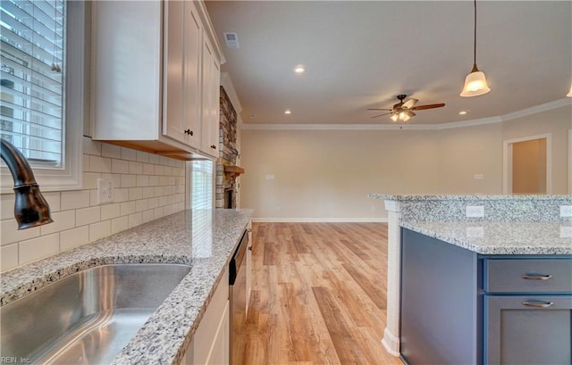
[[[572,129],[570,129],[568,137],[572,138]],[[502,194],[512,194],[512,145],[542,138],[546,138],[546,194],[552,193],[552,134],[546,133],[502,141]],[[570,149],[569,145],[568,149]],[[570,155],[572,156],[572,153]],[[572,176],[570,178],[572,179]],[[568,184],[568,189],[570,188]]]

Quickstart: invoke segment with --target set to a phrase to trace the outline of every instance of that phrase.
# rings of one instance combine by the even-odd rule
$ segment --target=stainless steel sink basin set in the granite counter
[[[108,364],[190,267],[114,264],[83,270],[0,308],[0,356]]]

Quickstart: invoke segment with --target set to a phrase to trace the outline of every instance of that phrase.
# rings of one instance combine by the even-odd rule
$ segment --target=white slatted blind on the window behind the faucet
[[[62,167],[65,2],[2,0],[0,133],[32,165]]]

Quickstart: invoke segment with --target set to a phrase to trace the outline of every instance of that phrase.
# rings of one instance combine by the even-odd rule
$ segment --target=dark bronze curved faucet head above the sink
[[[40,193],[34,173],[26,158],[11,143],[0,138],[0,154],[12,173],[14,180],[14,218],[18,229],[31,228],[51,223],[50,207]]]

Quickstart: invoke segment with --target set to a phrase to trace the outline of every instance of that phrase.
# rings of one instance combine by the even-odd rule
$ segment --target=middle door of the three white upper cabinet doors
[[[200,148],[201,141],[201,90],[200,68],[203,29],[192,1],[185,2],[185,86],[183,99],[183,124],[187,130],[187,144]]]

